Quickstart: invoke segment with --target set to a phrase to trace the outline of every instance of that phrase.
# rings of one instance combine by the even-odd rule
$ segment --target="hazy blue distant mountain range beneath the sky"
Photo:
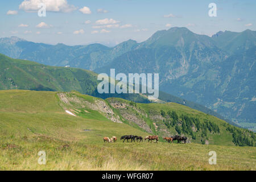
[[[160,90],[207,106],[244,127],[256,126],[256,31],[221,31],[209,37],[173,27],[142,43],[127,40],[115,47],[53,46],[11,37],[0,39],[0,53],[97,73],[109,74],[110,68],[116,73],[159,73]]]

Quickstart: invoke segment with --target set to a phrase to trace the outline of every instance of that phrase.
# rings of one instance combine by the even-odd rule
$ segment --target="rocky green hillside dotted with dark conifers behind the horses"
[[[180,104],[139,104],[122,98],[106,101],[128,123],[136,123],[149,133],[168,137],[186,135],[193,143],[255,146],[256,135],[252,131]]]

